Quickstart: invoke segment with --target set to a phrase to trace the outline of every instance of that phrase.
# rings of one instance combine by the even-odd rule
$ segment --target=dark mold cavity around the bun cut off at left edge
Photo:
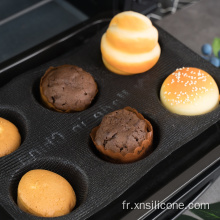
[[[26,118],[22,115],[22,113],[8,108],[0,108],[0,117],[10,121],[18,128],[18,131],[21,135],[22,145],[27,136],[28,131]]]

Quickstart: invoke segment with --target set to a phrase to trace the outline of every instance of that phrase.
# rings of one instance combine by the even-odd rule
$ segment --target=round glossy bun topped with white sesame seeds
[[[169,75],[160,90],[162,104],[179,115],[201,115],[219,104],[215,80],[204,70],[183,67]]]

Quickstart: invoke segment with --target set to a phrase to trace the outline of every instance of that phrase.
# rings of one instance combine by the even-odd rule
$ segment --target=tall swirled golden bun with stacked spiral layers
[[[105,66],[121,75],[149,70],[157,63],[160,51],[157,29],[149,18],[133,11],[113,17],[101,40]]]

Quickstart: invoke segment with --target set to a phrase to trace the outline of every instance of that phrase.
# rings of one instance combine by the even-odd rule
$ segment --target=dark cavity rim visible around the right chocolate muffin
[[[142,114],[142,115],[144,116],[145,119],[147,119],[151,123],[151,125],[153,127],[153,144],[150,146],[149,151],[146,154],[146,156],[144,158],[140,159],[140,160],[135,161],[135,162],[138,162],[138,161],[141,161],[141,160],[145,159],[148,155],[150,155],[156,149],[156,147],[159,145],[159,142],[160,142],[160,132],[159,132],[158,124],[153,119],[148,117],[146,114]],[[101,123],[101,121],[100,121],[100,123]],[[100,125],[100,123],[98,125]],[[98,126],[98,125],[96,125],[96,126]],[[92,153],[92,155],[95,156],[100,161],[104,161],[104,162],[107,162],[107,163],[121,164],[121,163],[112,162],[111,159],[109,160],[105,155],[102,155],[97,150],[97,148],[96,148],[95,144],[93,143],[91,137],[89,137],[88,145],[89,145],[89,150]],[[131,163],[135,163],[135,162],[131,162]]]

